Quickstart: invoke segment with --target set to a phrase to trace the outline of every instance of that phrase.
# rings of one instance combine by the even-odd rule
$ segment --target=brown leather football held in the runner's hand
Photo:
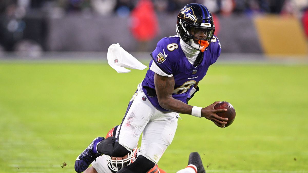
[[[235,119],[235,109],[229,102],[219,102],[214,106],[214,109],[227,109],[225,112],[218,112],[217,115],[223,118],[228,118],[225,127],[230,126]]]

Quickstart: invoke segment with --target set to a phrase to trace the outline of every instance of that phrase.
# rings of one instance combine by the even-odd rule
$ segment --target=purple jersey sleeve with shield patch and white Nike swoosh
[[[172,62],[172,55],[166,54],[167,52],[167,43],[166,39],[161,39],[156,46],[156,49],[151,53],[153,58],[153,62],[167,75],[171,75],[173,73],[174,63]]]

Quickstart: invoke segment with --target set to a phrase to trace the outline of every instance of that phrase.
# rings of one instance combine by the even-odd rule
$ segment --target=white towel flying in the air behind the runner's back
[[[108,64],[118,73],[128,73],[132,71],[125,67],[138,70],[144,70],[147,68],[147,66],[139,62],[135,57],[124,50],[119,43],[109,46],[107,60]]]

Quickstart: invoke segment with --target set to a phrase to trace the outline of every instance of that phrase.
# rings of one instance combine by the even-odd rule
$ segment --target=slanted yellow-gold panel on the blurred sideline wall
[[[269,57],[308,57],[307,39],[298,18],[257,16],[254,24],[264,53]]]

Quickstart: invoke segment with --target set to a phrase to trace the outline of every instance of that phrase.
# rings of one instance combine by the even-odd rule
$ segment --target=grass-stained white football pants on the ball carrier
[[[133,150],[143,132],[139,154],[158,163],[173,140],[178,115],[153,107],[142,91],[140,83],[120,126],[119,143],[126,149]]]

